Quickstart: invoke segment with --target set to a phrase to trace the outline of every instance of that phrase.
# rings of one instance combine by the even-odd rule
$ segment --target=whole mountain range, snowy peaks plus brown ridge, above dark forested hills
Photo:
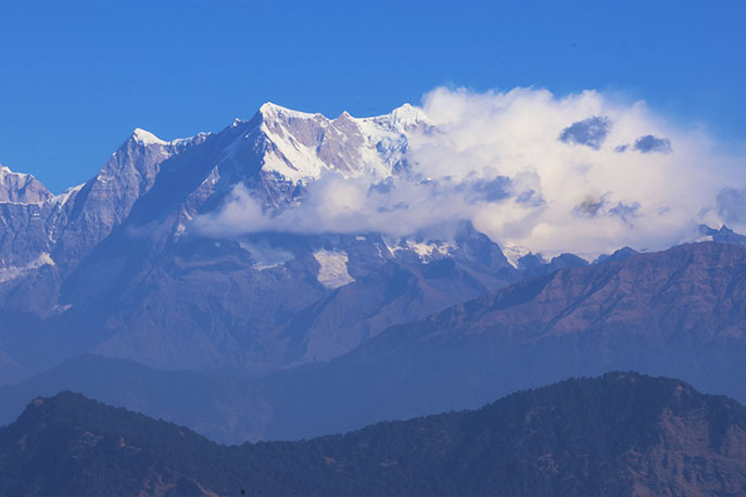
[[[438,130],[409,105],[265,104],[216,133],[137,129],[59,195],[0,168],[0,423],[69,390],[219,442],[295,439],[610,370],[746,402],[746,238],[726,227],[592,263],[508,260],[468,221],[442,238],[198,229],[239,188],[269,215],[327,174],[383,188],[416,132]]]

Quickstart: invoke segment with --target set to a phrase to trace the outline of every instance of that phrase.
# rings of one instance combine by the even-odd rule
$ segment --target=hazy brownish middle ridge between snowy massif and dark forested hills
[[[36,395],[72,388],[214,439],[296,439],[614,369],[677,375],[742,400],[744,270],[746,247],[717,242],[566,268],[249,382],[84,356],[0,388],[0,422]],[[128,380],[117,381],[123,371]],[[190,403],[200,409],[181,412]]]

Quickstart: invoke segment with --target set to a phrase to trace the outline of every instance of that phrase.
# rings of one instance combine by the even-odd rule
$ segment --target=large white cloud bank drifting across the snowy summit
[[[198,218],[198,229],[438,237],[468,219],[508,251],[591,257],[694,240],[699,222],[746,222],[746,190],[723,190],[738,184],[738,157],[644,102],[596,91],[438,88],[421,110],[432,128],[408,137],[407,171],[328,173],[299,207],[273,214],[239,186],[220,212]]]

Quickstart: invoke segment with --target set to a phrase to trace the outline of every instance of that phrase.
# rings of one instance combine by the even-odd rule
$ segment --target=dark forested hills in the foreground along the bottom
[[[0,429],[8,495],[739,495],[746,408],[631,372],[307,442],[220,446],[72,393]]]

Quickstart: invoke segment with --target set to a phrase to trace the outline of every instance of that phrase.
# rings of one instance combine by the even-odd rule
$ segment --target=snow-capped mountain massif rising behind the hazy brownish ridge
[[[408,105],[329,119],[265,104],[190,139],[137,129],[60,195],[3,173],[15,179],[0,197],[0,383],[86,352],[255,375],[519,281],[467,224],[447,239],[193,228],[238,187],[271,215],[328,173],[391,177],[409,133],[430,128]]]

